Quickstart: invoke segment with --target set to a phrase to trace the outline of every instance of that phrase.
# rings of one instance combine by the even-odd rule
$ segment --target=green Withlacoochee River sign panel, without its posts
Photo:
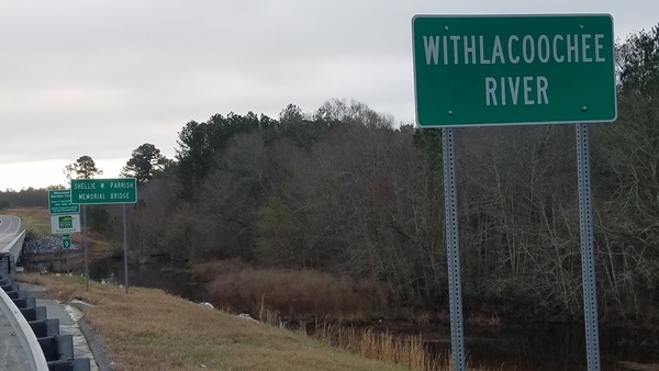
[[[421,127],[611,122],[610,14],[416,15]]]

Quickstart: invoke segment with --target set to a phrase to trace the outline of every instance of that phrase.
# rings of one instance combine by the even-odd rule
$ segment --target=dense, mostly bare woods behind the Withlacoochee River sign
[[[616,58],[618,120],[590,125],[597,293],[607,318],[639,321],[659,304],[659,29]],[[466,311],[578,318],[573,125],[455,134]],[[129,213],[134,259],[314,269],[379,281],[392,305],[447,306],[440,131],[328,100],[215,114],[178,139]]]

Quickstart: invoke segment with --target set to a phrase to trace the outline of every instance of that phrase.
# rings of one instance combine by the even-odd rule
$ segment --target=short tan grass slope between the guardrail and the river
[[[163,291],[91,282],[80,277],[20,274],[49,297],[90,304],[86,319],[115,370],[405,370],[351,355],[305,335],[237,318]]]

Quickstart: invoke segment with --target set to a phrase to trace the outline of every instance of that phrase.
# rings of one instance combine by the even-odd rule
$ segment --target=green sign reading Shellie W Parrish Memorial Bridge
[[[116,179],[71,179],[71,203],[108,204],[137,202],[137,180]]]

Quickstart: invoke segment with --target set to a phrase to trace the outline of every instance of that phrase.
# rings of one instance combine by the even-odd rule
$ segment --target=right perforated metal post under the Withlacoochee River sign
[[[577,124],[577,171],[579,178],[579,225],[581,227],[581,277],[583,279],[583,319],[585,322],[585,357],[588,370],[600,370],[600,336],[597,330],[597,291],[595,285],[595,251],[593,247],[593,213],[590,186],[588,124]]]

